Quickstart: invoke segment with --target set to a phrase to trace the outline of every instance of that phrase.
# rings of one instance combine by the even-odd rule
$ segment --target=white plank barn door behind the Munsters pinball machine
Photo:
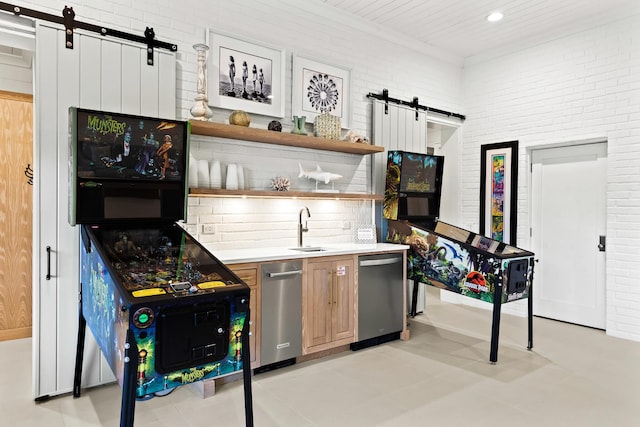
[[[69,107],[175,118],[175,54],[38,24],[35,53],[33,390],[34,398],[73,388],[79,296],[79,228],[68,218]],[[87,333],[83,386],[112,381]]]

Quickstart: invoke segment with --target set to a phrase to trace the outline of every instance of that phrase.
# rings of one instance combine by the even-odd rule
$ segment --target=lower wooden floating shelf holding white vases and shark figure
[[[267,190],[218,190],[212,188],[190,188],[190,196],[196,197],[249,197],[249,198],[299,198],[340,200],[382,200],[377,194],[322,193],[311,191],[267,191]]]

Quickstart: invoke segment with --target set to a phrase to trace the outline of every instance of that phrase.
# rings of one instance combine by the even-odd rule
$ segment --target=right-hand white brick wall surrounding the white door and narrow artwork
[[[463,222],[478,229],[480,145],[519,140],[518,246],[529,244],[527,148],[608,140],[606,328],[640,341],[640,16],[469,65],[463,93]]]

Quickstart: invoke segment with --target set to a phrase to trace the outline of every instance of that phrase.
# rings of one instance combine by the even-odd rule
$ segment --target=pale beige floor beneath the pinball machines
[[[492,365],[490,312],[427,300],[409,341],[254,376],[255,426],[640,426],[640,343],[535,318],[528,351],[526,319],[503,315]],[[2,426],[119,424],[116,385],[35,403],[30,339],[0,343],[0,366]],[[242,382],[136,404],[135,426],[243,425]]]

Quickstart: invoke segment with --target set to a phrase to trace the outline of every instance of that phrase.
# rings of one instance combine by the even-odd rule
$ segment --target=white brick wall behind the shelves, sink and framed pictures
[[[156,38],[176,43],[178,50],[178,118],[189,119],[196,95],[196,57],[192,46],[204,43],[208,28],[240,38],[284,48],[286,51],[285,131],[292,128],[291,55],[298,54],[328,64],[351,69],[352,129],[371,136],[369,92],[420,102],[432,107],[460,112],[462,69],[398,45],[362,24],[352,25],[342,16],[330,16],[322,4],[308,5],[292,0],[245,0],[180,2],[103,0],[103,1],[21,1],[20,5],[61,15],[65,5],[74,8],[76,19],[142,35],[153,27]],[[345,42],[348,41],[348,42]],[[213,121],[226,122],[229,111],[214,112]],[[252,126],[265,127],[272,117],[252,115]],[[320,164],[323,169],[344,175],[336,188],[346,192],[369,191],[370,159],[317,150],[260,147],[232,141],[220,144],[210,138],[194,137],[194,156],[208,160],[241,163],[252,188],[266,188],[271,178],[287,175],[297,189],[311,189],[312,181],[298,180],[298,161],[305,169]],[[246,153],[246,154],[244,154]],[[239,155],[246,159],[238,160]],[[296,243],[298,211],[308,206],[312,218],[305,243],[348,242],[352,228],[344,223],[371,223],[373,204],[361,201],[268,200],[268,199],[189,199],[187,228],[212,244],[214,250],[230,247],[267,247]],[[214,223],[215,234],[202,233],[202,225]],[[322,240],[322,241],[321,241]]]

